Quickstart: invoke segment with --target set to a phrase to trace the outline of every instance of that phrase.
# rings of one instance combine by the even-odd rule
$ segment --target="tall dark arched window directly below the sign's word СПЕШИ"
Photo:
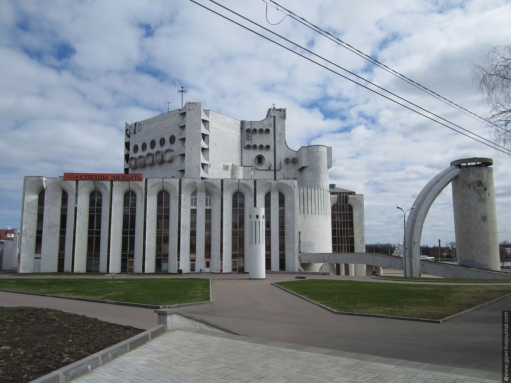
[[[99,272],[101,246],[101,205],[103,196],[92,192],[89,196],[89,226],[87,233],[87,268],[88,272]]]

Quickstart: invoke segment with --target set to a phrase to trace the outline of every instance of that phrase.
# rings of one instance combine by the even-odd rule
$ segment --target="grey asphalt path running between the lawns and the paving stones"
[[[268,274],[261,280],[251,280],[248,274],[194,277],[212,279],[213,301],[179,310],[251,337],[421,363],[501,369],[501,317],[502,310],[511,309],[511,297],[438,324],[332,314],[271,285],[293,275]],[[5,292],[0,292],[0,305],[49,307],[144,329],[157,320],[152,309]]]

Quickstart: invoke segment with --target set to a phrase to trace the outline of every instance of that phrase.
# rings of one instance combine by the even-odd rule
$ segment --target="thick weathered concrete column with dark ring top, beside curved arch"
[[[458,265],[500,271],[497,212],[491,158],[451,162],[460,173],[452,180]]]

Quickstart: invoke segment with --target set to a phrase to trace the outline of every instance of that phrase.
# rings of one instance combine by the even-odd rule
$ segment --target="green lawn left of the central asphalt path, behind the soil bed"
[[[141,279],[0,279],[0,289],[164,306],[210,300],[210,280]]]

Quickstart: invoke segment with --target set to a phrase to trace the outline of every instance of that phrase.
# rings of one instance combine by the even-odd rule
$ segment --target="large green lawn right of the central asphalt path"
[[[511,293],[511,285],[425,285],[319,279],[276,284],[339,312],[436,320]]]

